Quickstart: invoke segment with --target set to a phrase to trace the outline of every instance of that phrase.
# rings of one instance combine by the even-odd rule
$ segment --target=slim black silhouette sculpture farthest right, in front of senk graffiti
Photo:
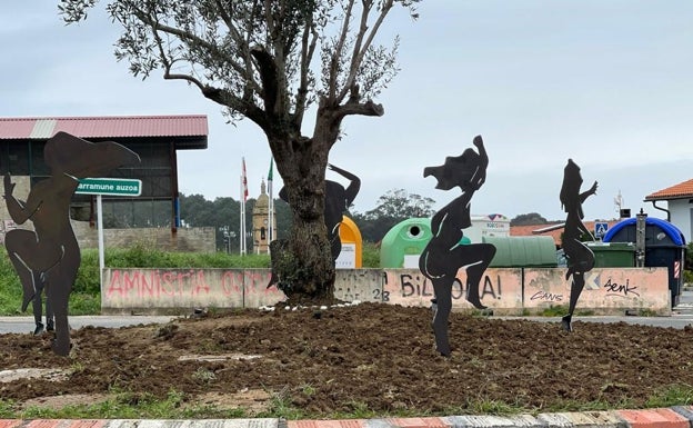
[[[571,320],[575,305],[580,298],[580,293],[584,288],[584,273],[594,267],[594,253],[581,241],[583,235],[592,236],[582,222],[584,212],[582,203],[587,197],[596,193],[596,181],[584,192],[580,192],[582,186],[582,177],[580,176],[580,167],[568,160],[568,165],[563,169],[563,186],[561,187],[561,205],[565,210],[565,226],[563,228],[563,251],[568,259],[568,272],[565,279],[572,279],[570,306],[568,315],[561,320],[561,325],[565,331],[572,331]],[[594,238],[592,238],[594,240]]]

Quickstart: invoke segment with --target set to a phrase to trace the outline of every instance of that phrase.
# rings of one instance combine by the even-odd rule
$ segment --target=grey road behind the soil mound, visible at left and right
[[[143,316],[143,315],[98,315],[98,316],[72,316],[70,326],[79,329],[84,326],[119,328],[139,324],[165,324],[178,318],[172,316]],[[498,317],[512,319],[518,317]],[[560,317],[521,317],[532,321],[561,322]],[[632,317],[632,316],[591,316],[573,317],[573,321],[586,322],[627,322],[641,326],[684,328],[693,325],[693,291],[683,291],[680,305],[674,308],[671,317]],[[32,332],[34,328],[33,317],[0,317],[0,335],[9,332]]]

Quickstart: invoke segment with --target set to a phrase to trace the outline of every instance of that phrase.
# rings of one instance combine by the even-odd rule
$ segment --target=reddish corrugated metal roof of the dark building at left
[[[197,140],[181,148],[207,148],[204,115],[0,118],[0,140],[49,139],[64,131],[80,138],[174,137]],[[178,145],[177,145],[178,146]]]

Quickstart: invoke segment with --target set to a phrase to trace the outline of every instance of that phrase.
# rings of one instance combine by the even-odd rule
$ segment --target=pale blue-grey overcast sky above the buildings
[[[225,123],[218,104],[160,73],[132,77],[112,53],[116,24],[96,11],[66,27],[57,3],[3,0],[0,116],[207,115],[208,149],[179,151],[180,190],[239,199],[244,157],[259,195],[271,155],[253,123]],[[563,219],[569,158],[583,189],[599,181],[587,220],[617,217],[619,192],[633,215],[662,218],[644,197],[693,178],[693,1],[424,0],[419,11],[382,31],[401,37],[402,70],[376,100],[385,115],[346,118],[330,155],[361,178],[355,211],[393,189],[448,203],[459,190],[434,189],[423,168],[476,135],[490,166],[475,215]]]

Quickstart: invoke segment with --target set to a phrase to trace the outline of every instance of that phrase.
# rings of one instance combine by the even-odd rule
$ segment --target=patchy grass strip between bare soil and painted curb
[[[302,387],[302,394],[310,396],[312,387]],[[645,408],[666,408],[689,406],[693,404],[693,387],[690,385],[671,385],[662,387],[647,400]],[[476,397],[464,407],[452,407],[441,412],[415,409],[402,406],[386,414],[374,412],[368,404],[353,400],[344,410],[331,415],[312,414],[292,404],[291,394],[283,389],[273,392],[268,410],[252,414],[244,408],[219,409],[213,406],[192,406],[187,404],[185,396],[171,390],[165,399],[155,399],[148,392],[112,391],[103,401],[92,405],[68,406],[61,409],[29,407],[20,410],[17,402],[0,399],[0,418],[4,419],[212,419],[212,418],[283,418],[297,419],[369,419],[385,417],[424,417],[450,415],[495,415],[512,416],[519,414],[538,415],[563,411],[604,411],[611,409],[637,408],[627,398],[620,402],[609,402],[595,397],[594,400],[580,402],[563,400],[545,407],[524,407],[518,402],[503,402]]]

